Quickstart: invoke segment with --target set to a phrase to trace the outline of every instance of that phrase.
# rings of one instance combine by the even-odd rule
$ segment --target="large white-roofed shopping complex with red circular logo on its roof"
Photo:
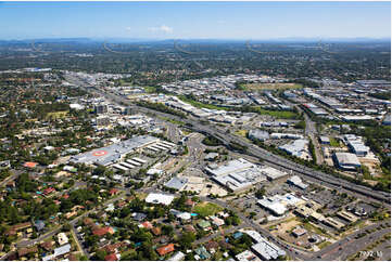
[[[160,139],[149,135],[135,136],[110,146],[93,149],[69,158],[69,162],[109,166],[117,162],[125,155],[139,148],[160,142]]]

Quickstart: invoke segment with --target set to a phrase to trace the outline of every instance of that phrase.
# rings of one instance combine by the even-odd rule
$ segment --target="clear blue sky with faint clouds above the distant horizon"
[[[0,39],[390,38],[391,2],[0,2]]]

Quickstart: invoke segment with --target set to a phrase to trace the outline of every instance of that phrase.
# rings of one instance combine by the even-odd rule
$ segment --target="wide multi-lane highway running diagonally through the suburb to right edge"
[[[273,167],[278,167],[280,170],[287,171],[289,173],[292,172],[293,174],[299,174],[301,176],[305,176],[307,180],[311,180],[315,183],[330,186],[330,187],[337,188],[341,192],[346,191],[357,197],[362,197],[362,198],[365,197],[364,199],[366,199],[366,200],[371,199],[374,201],[380,201],[383,205],[387,205],[388,207],[390,207],[390,204],[391,204],[391,194],[390,193],[374,191],[372,188],[369,188],[369,187],[366,187],[363,185],[357,185],[350,181],[336,178],[332,174],[327,174],[327,173],[307,168],[305,166],[299,165],[299,163],[288,160],[281,156],[274,155],[266,149],[260,148],[258,146],[256,146],[252,143],[249,143],[248,141],[244,141],[240,136],[237,136],[237,135],[233,135],[230,133],[225,133],[225,130],[222,130],[222,129],[217,128],[216,126],[203,125],[198,119],[192,119],[192,118],[185,119],[185,118],[180,118],[178,116],[174,116],[170,114],[161,113],[161,112],[153,110],[153,109],[146,108],[146,107],[140,107],[140,106],[132,104],[131,102],[129,102],[127,99],[125,99],[123,96],[115,95],[113,93],[108,93],[96,87],[91,87],[87,82],[84,82],[81,79],[78,79],[78,78],[75,78],[72,76],[67,76],[66,78],[67,78],[68,82],[72,82],[80,88],[85,88],[89,92],[96,92],[115,103],[131,106],[135,110],[138,110],[140,113],[155,114],[155,115],[160,115],[162,117],[168,117],[168,118],[172,118],[172,119],[175,119],[178,121],[186,122],[186,123],[190,125],[189,128],[192,129],[193,131],[200,132],[203,134],[214,135],[219,141],[222,141],[225,145],[229,145],[230,143],[236,142],[236,143],[240,144],[241,146],[245,146],[248,148],[246,149],[248,155],[257,157],[258,159],[262,159],[262,160],[268,162]]]

